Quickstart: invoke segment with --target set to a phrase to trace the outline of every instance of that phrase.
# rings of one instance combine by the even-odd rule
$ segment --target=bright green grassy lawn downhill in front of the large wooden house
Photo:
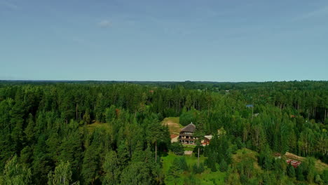
[[[197,163],[197,158],[193,156],[177,156],[175,153],[169,152],[168,156],[162,157],[162,162],[163,162],[163,172],[165,176],[168,174],[168,170],[170,166],[172,165],[172,162],[175,158],[186,158],[186,162],[189,165],[189,169],[192,169],[193,164]],[[205,157],[200,156],[200,163],[204,163]],[[219,169],[219,167],[217,167]],[[224,177],[225,177],[224,172],[211,172],[210,169],[207,169],[205,167],[205,172],[201,174],[192,174],[192,172],[184,172],[181,174],[181,181],[179,184],[183,184],[183,179],[189,176],[193,176],[198,181],[200,181],[200,184],[205,184],[205,185],[210,185],[210,184],[224,184]],[[215,183],[214,183],[215,182]],[[172,181],[170,181],[168,178],[165,178],[165,184],[174,184]]]

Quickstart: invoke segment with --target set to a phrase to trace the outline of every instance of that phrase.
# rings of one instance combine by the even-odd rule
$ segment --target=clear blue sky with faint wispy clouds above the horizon
[[[328,80],[327,0],[0,0],[1,80]]]

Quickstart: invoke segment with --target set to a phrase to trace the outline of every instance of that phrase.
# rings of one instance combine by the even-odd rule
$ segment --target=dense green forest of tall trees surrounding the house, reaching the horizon
[[[163,172],[182,147],[168,117],[214,136],[195,148],[203,163],[178,152]],[[328,81],[0,81],[0,184],[201,184],[175,179],[205,169],[225,184],[327,184],[327,130]],[[301,165],[275,158],[286,152]]]

